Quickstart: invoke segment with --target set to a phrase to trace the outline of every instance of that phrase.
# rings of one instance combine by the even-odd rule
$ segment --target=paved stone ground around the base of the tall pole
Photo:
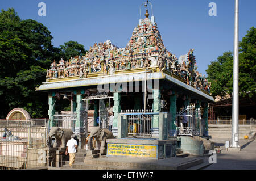
[[[217,154],[217,163],[204,170],[256,170],[256,141],[239,140],[242,150],[239,152],[226,151],[225,141],[230,139],[213,138],[216,146],[220,146],[221,154]]]

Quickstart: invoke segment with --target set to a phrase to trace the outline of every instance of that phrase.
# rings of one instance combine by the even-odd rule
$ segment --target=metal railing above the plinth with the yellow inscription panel
[[[128,119],[128,135],[130,136],[143,136],[151,135],[152,128],[152,110],[122,110],[121,114],[127,115]]]

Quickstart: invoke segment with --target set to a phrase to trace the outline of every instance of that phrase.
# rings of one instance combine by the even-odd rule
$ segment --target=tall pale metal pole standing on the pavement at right
[[[234,22],[234,63],[233,63],[233,103],[232,103],[232,140],[231,147],[239,148],[238,145],[238,116],[239,116],[239,97],[238,97],[238,73],[239,73],[239,54],[238,54],[238,15],[239,0],[235,0],[235,22]]]

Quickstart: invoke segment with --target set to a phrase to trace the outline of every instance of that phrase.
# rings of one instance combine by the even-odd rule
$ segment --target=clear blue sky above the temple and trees
[[[46,16],[38,15],[38,3],[46,3]],[[94,43],[111,40],[125,47],[138,24],[142,0],[8,0],[0,8],[14,7],[22,19],[34,19],[51,31],[55,47],[69,40],[88,50]],[[209,16],[210,2],[217,16]],[[152,0],[154,16],[165,47],[177,57],[195,49],[200,73],[225,51],[233,51],[234,0]],[[256,1],[240,0],[240,41],[256,27]],[[151,8],[148,7],[151,16]],[[145,9],[142,6],[142,18]]]

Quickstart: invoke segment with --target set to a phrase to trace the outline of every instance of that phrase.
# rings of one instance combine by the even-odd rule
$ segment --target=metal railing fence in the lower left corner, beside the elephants
[[[47,127],[0,127],[0,170],[42,167],[47,142]]]

